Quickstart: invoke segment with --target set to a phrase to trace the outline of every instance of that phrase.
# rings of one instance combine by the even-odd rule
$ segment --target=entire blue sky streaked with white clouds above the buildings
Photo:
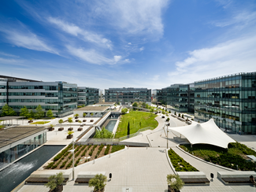
[[[256,71],[256,2],[0,2],[0,74],[168,87]]]

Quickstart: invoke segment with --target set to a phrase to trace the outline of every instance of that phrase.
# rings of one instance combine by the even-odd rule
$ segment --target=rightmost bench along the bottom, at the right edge
[[[256,176],[256,172],[236,171],[236,172],[217,172],[217,178],[226,185],[232,184],[253,184],[250,182],[250,175]]]

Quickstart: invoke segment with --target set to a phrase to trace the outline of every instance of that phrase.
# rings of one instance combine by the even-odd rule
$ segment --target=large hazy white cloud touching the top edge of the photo
[[[116,28],[134,35],[154,35],[160,38],[164,26],[161,21],[163,9],[169,0],[113,0],[98,2],[95,13],[109,20]]]

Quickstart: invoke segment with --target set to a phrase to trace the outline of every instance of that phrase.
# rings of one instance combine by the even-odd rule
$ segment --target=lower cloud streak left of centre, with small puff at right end
[[[95,50],[83,50],[83,48],[76,48],[73,46],[66,46],[67,49],[69,50],[69,53],[72,54],[75,57],[80,58],[83,61],[87,61],[92,64],[96,65],[104,65],[104,64],[109,64],[109,65],[114,65],[117,63],[128,63],[129,60],[125,59],[124,61],[121,61],[122,57],[115,55],[112,58],[104,57],[101,54],[98,54]]]

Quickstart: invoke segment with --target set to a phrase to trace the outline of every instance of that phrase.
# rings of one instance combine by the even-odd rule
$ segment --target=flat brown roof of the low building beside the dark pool
[[[46,126],[17,126],[0,130],[0,148],[46,130]]]

